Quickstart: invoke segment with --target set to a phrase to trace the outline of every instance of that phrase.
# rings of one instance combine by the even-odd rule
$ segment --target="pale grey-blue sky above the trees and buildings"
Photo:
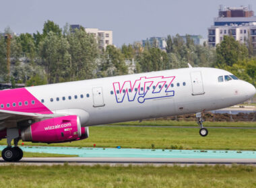
[[[255,0],[9,0],[0,4],[0,32],[7,26],[16,34],[42,32],[48,19],[113,30],[116,46],[153,36],[195,34],[207,37],[219,5],[240,7]]]

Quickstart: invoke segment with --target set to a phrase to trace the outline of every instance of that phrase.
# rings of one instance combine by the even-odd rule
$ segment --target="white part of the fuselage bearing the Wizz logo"
[[[180,68],[26,89],[53,113],[78,113],[82,126],[94,126],[220,109],[253,97],[253,85],[218,82],[224,75],[232,74],[217,68]]]

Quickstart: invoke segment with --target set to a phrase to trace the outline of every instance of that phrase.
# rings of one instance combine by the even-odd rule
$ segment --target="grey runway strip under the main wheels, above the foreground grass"
[[[128,165],[215,165],[215,164],[249,164],[256,166],[256,158],[115,158],[115,157],[49,157],[49,158],[22,158],[20,162],[5,162],[0,160],[0,165],[54,165],[54,164],[71,164],[71,165],[88,165],[96,164],[110,166],[128,166]]]

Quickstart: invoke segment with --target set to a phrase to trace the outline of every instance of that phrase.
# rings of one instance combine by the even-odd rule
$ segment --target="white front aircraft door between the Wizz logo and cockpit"
[[[203,79],[201,71],[191,72],[192,95],[203,95]]]

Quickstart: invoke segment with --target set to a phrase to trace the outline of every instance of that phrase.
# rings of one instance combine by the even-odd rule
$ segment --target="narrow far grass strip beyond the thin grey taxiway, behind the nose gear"
[[[122,126],[198,126],[195,121],[144,120],[142,122],[123,122],[111,125]],[[256,128],[256,122],[203,122],[205,127],[248,127]]]

